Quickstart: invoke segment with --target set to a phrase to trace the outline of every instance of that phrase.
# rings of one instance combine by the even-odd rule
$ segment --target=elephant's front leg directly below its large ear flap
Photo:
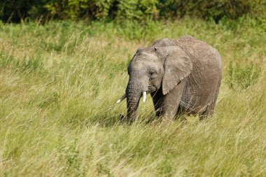
[[[176,116],[185,85],[186,79],[183,79],[173,90],[165,95],[162,102],[162,116],[169,119],[173,119]]]

